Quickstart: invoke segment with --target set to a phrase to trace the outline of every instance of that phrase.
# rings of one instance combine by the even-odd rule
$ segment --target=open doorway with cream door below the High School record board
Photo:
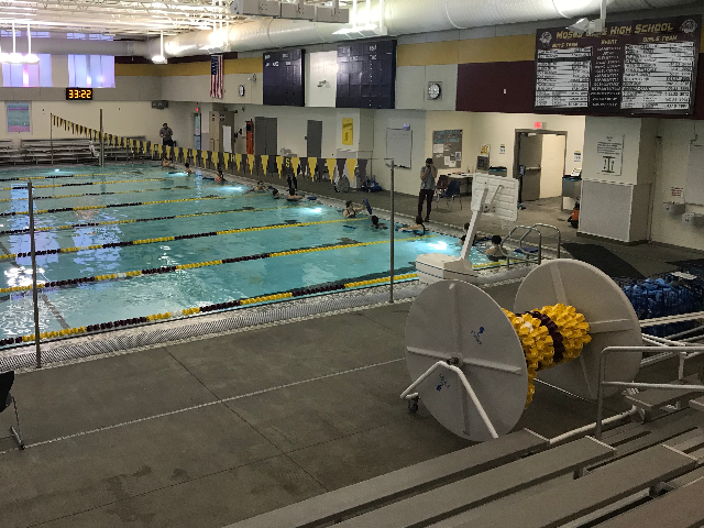
[[[566,144],[564,131],[516,130],[514,174],[524,175],[521,201],[562,196]]]

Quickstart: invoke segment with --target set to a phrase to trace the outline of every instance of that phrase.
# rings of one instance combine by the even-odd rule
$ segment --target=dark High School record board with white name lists
[[[610,22],[584,35],[538,30],[536,111],[692,113],[701,24],[692,15]]]

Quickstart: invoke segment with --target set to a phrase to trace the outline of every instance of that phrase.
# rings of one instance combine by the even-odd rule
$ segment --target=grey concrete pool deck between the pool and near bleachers
[[[517,284],[488,288],[510,306]],[[409,384],[409,302],[18,375],[25,451],[0,442],[3,528],[227,526],[469,444]],[[688,370],[697,364],[688,363]],[[673,364],[641,380],[675,376]],[[518,427],[552,437],[592,403],[544,385]],[[620,397],[609,411],[628,408]],[[0,424],[10,424],[9,413]]]

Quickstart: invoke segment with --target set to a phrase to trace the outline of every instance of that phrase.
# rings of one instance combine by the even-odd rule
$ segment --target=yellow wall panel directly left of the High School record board
[[[460,64],[535,61],[536,35],[494,36],[460,41]]]

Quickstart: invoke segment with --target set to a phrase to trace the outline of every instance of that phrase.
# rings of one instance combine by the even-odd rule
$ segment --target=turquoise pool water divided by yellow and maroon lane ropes
[[[249,187],[244,185],[216,184],[200,176],[169,174],[169,170],[174,169],[153,164],[0,170],[3,189],[0,190],[0,211],[15,213],[0,217],[3,233],[0,251],[6,254],[30,252],[26,232],[8,233],[29,228],[26,189],[8,189],[24,182],[8,178],[28,176],[48,177],[32,180],[34,196],[41,198],[34,202],[36,211],[85,208],[37,212],[35,227],[41,230],[36,233],[37,252],[145,241],[136,245],[38,255],[40,283],[326,245],[343,248],[42,288],[42,332],[388,275],[389,231],[372,229],[367,216],[346,220],[339,209],[316,201],[275,200],[270,194],[246,193]],[[87,183],[97,185],[76,185]],[[42,187],[64,184],[70,185]],[[94,196],[85,196],[87,194]],[[163,200],[184,201],[99,208]],[[160,219],[173,216],[179,218]],[[135,219],[144,221],[134,222]],[[86,223],[101,224],[73,227]],[[271,226],[274,228],[184,240],[152,240]],[[416,237],[397,232],[394,251],[395,273],[410,274],[415,273],[418,254],[459,255],[460,246],[457,239],[438,233]],[[476,250],[472,260],[485,261]],[[3,272],[0,288],[32,283],[29,256],[2,260],[0,268]],[[33,329],[31,290],[0,294],[0,338],[31,334]]]

